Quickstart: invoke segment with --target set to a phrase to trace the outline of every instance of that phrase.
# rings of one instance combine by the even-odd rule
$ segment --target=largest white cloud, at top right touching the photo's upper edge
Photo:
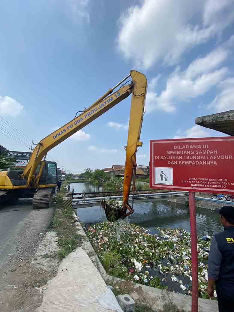
[[[231,0],[197,0],[193,5],[190,0],[140,3],[120,17],[117,44],[125,58],[146,69],[161,59],[176,64],[184,51],[220,35],[234,20]],[[192,24],[194,17],[197,22]]]

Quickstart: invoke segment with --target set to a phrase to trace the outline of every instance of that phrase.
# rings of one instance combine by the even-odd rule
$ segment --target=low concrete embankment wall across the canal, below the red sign
[[[180,197],[172,197],[168,198],[169,202],[176,202],[180,204],[188,205],[188,197],[187,196],[180,196]],[[221,208],[222,206],[233,206],[234,202],[229,202],[225,200],[218,200],[218,199],[211,199],[211,198],[204,198],[204,197],[195,197],[196,207],[198,208],[205,208],[209,210],[215,210],[217,208]]]

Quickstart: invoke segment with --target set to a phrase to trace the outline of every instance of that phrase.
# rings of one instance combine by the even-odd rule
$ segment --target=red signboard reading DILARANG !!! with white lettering
[[[234,137],[150,140],[150,187],[234,193]]]

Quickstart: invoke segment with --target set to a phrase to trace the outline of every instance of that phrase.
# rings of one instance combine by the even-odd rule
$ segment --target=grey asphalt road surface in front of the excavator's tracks
[[[54,207],[32,209],[32,199],[0,206],[0,272],[28,259],[51,224]]]

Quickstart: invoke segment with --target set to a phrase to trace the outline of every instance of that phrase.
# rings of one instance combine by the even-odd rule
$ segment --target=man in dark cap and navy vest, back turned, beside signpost
[[[219,312],[234,311],[234,207],[220,209],[224,231],[211,241],[208,258],[208,287],[210,298],[214,295],[214,284]]]

